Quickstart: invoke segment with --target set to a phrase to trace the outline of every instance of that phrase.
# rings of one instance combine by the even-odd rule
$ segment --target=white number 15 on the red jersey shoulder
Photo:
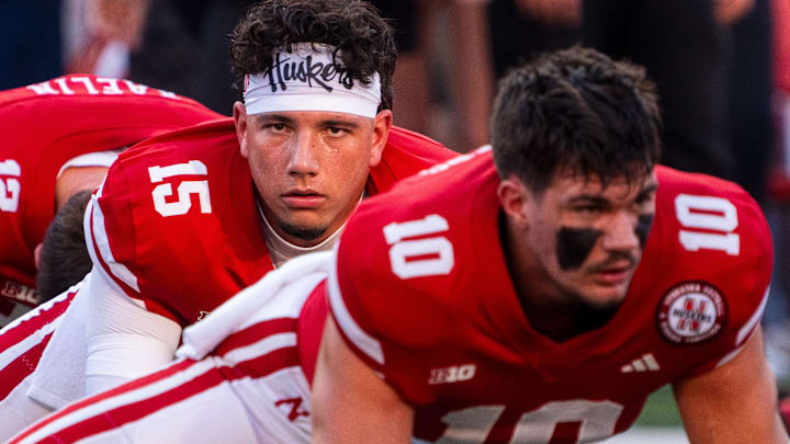
[[[159,183],[165,178],[171,178],[173,175],[207,175],[208,171],[206,166],[200,160],[190,160],[188,163],[176,163],[168,167],[150,167],[148,168],[148,175],[150,177],[151,183]],[[154,197],[154,207],[160,215],[168,216],[180,216],[189,213],[192,208],[192,194],[198,194],[201,213],[207,214],[212,212],[211,198],[208,196],[208,181],[182,181],[178,185],[178,201],[166,202],[165,198],[171,196],[172,185],[169,183],[161,183],[157,185],[151,192]]]

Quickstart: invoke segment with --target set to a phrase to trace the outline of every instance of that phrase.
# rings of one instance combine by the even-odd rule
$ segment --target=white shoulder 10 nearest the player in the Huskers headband
[[[443,236],[404,240],[433,235],[449,229],[445,218],[432,214],[424,219],[392,223],[384,227],[384,238],[390,249],[393,273],[402,280],[448,274],[455,265],[453,247]],[[422,259],[414,259],[424,257]],[[427,258],[425,258],[427,257]],[[409,260],[411,258],[411,260]]]

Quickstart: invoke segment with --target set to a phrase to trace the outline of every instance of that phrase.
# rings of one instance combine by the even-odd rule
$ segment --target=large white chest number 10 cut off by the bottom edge
[[[450,412],[442,418],[448,425],[437,444],[483,443],[505,406],[477,406]],[[614,433],[623,406],[612,401],[574,399],[548,402],[521,415],[510,439],[516,443],[549,443],[558,423],[578,422],[577,443],[598,441]]]

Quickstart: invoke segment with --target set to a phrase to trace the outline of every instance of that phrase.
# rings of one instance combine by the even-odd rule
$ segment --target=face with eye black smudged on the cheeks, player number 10
[[[557,297],[595,308],[620,304],[642,259],[656,189],[655,173],[606,187],[597,178],[566,174],[527,200],[528,244]]]

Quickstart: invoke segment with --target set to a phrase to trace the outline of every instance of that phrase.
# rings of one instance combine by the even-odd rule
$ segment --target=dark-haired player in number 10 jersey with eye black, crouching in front
[[[327,284],[313,442],[589,442],[672,384],[692,443],[787,443],[764,216],[654,168],[657,126],[642,70],[546,55],[500,84],[493,156],[363,204]]]

